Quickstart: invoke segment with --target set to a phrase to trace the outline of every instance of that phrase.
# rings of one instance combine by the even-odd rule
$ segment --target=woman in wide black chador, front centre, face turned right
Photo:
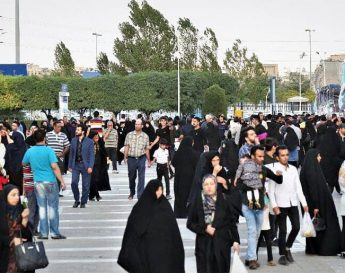
[[[163,185],[151,180],[134,205],[118,264],[130,273],[184,273],[180,231]]]

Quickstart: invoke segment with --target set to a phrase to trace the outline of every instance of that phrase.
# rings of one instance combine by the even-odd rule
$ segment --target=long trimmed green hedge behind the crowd
[[[205,90],[217,84],[224,89],[225,100],[234,101],[237,81],[227,74],[181,71],[181,110],[193,113],[203,105]],[[177,109],[177,71],[142,72],[128,76],[105,75],[97,78],[80,77],[0,77],[0,109],[58,109],[61,84],[68,85],[69,109],[84,114],[100,108],[112,112],[140,110],[152,113]]]

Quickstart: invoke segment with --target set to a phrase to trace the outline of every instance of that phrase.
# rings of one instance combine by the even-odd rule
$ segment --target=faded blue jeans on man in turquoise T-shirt
[[[35,194],[40,215],[40,233],[42,236],[59,235],[59,187],[57,182],[35,183]],[[48,226],[49,215],[49,226]]]

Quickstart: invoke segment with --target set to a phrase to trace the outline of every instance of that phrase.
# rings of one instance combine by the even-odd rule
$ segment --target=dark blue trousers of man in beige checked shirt
[[[145,188],[145,162],[146,157],[143,155],[141,157],[128,157],[128,178],[129,178],[129,190],[131,195],[135,195],[135,179],[137,178],[137,173],[139,176],[138,187],[137,187],[137,197],[140,198],[141,194]]]

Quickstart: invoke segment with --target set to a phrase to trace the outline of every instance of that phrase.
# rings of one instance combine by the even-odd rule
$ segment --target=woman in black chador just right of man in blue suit
[[[93,140],[95,152],[95,164],[91,174],[89,200],[94,201],[96,198],[97,201],[99,201],[102,199],[99,195],[100,191],[111,190],[107,166],[107,153],[104,148],[104,142],[96,131],[91,130],[89,138]]]

